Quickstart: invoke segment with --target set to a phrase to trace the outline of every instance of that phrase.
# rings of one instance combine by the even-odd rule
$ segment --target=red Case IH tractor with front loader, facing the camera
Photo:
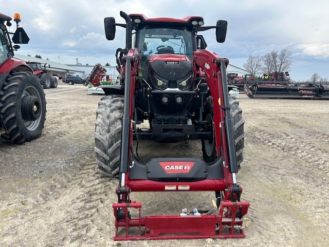
[[[95,122],[95,151],[102,174],[119,178],[113,203],[115,240],[243,238],[249,202],[240,201],[236,173],[243,160],[244,120],[229,96],[227,59],[205,50],[198,31],[216,30],[224,42],[227,22],[203,27],[203,18],[147,18],[120,12],[125,24],[106,17],[105,34],[114,40],[124,27],[126,44],[117,49],[121,82],[100,86]],[[132,44],[134,35],[134,44]],[[148,120],[150,128],[136,124]],[[138,155],[139,140],[179,142],[198,139],[203,159]],[[136,149],[133,142],[137,142]],[[213,191],[210,210],[141,216],[131,192]],[[210,201],[210,200],[209,200]],[[132,209],[134,208],[134,209]],[[139,212],[133,216],[130,211]],[[131,230],[136,230],[132,232]]]

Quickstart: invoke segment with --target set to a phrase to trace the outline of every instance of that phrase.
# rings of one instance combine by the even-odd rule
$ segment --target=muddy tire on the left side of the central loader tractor
[[[95,153],[98,170],[103,176],[119,176],[123,104],[124,98],[119,95],[104,96],[98,102]]]

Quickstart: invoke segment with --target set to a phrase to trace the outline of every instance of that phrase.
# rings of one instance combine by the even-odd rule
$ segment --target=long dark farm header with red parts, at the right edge
[[[247,83],[244,92],[249,98],[329,100],[328,83],[293,83],[288,72],[263,75],[260,81]]]

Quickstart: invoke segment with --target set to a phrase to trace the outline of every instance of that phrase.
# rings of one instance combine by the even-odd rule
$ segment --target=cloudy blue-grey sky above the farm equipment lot
[[[329,1],[295,0],[0,0],[1,12],[20,13],[30,38],[19,54],[63,64],[109,63],[116,65],[115,51],[125,46],[124,28],[117,27],[114,41],[107,41],[104,17],[125,23],[120,11],[147,17],[203,16],[205,26],[226,20],[225,43],[217,43],[214,29],[200,32],[207,49],[230,64],[243,68],[250,55],[263,56],[282,49],[291,51],[290,78],[308,80],[314,73],[329,79]],[[6,6],[4,8],[4,6]],[[14,32],[15,23],[10,28]]]

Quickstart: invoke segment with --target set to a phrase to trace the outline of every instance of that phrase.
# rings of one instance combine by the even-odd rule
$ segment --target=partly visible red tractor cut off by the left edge
[[[46,99],[39,79],[22,60],[14,59],[14,44],[27,44],[29,37],[19,27],[15,14],[15,33],[8,32],[12,18],[0,13],[0,135],[11,143],[31,141],[41,135],[46,119]],[[6,24],[6,25],[5,25]]]

